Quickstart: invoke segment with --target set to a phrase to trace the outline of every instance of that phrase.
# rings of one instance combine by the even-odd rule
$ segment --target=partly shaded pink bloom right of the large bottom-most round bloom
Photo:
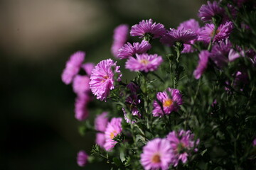
[[[167,135],[166,139],[171,142],[171,164],[175,166],[178,165],[179,160],[185,164],[190,156],[191,152],[197,152],[196,145],[198,145],[199,140],[194,141],[194,136],[190,130],[179,132],[172,131]]]

